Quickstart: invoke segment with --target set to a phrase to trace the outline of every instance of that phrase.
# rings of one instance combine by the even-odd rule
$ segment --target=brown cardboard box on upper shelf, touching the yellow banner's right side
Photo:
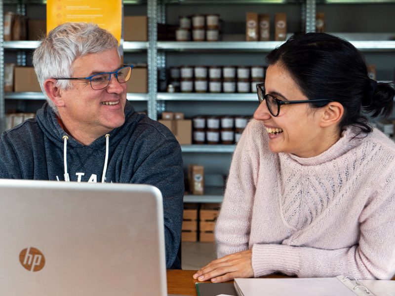
[[[147,16],[123,17],[123,40],[147,41]]]

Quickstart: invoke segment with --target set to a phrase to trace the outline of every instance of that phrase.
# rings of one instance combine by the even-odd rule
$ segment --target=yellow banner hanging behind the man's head
[[[98,24],[120,42],[122,0],[47,0],[46,32],[67,22]]]

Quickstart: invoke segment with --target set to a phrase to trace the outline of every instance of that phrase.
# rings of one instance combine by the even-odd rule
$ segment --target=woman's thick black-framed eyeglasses
[[[259,104],[262,103],[263,101],[266,101],[266,106],[269,109],[269,112],[273,116],[278,116],[280,113],[280,106],[281,105],[290,105],[290,104],[301,104],[301,103],[320,103],[318,105],[322,106],[317,106],[317,107],[323,107],[329,102],[333,102],[333,100],[330,99],[312,99],[312,100],[299,100],[299,101],[281,101],[278,100],[275,96],[266,94],[265,95],[265,83],[259,83],[256,85],[256,90],[258,94],[258,101]]]

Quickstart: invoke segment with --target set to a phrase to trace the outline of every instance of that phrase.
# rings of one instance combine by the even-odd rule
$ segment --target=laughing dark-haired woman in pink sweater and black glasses
[[[219,259],[194,278],[392,278],[395,144],[362,111],[392,114],[394,89],[328,34],[291,37],[267,62],[215,229]]]

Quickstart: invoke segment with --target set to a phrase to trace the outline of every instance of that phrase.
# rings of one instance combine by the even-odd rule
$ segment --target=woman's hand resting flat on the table
[[[200,268],[194,274],[198,281],[221,283],[234,278],[249,278],[254,276],[251,264],[252,251],[246,250],[216,259]]]

